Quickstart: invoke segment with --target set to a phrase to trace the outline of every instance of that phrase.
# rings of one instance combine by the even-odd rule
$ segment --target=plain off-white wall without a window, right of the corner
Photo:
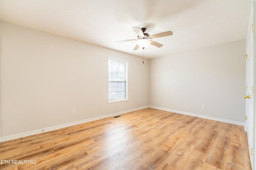
[[[244,123],[245,44],[240,40],[150,59],[150,105]]]

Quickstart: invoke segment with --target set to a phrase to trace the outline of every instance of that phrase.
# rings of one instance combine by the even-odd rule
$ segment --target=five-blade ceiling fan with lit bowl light
[[[148,33],[145,33],[146,28],[140,28],[140,27],[132,27],[132,28],[138,34],[137,39],[128,39],[128,40],[116,41],[116,43],[123,43],[123,42],[127,42],[127,41],[136,41],[137,45],[134,47],[133,50],[137,50],[139,47],[142,47],[142,49],[144,49],[149,44],[152,44],[152,45],[160,48],[163,45],[160,44],[160,43],[157,43],[156,41],[153,41],[152,39],[172,35],[172,31],[166,31],[166,32],[157,33],[157,34],[154,34],[154,35],[149,35]]]

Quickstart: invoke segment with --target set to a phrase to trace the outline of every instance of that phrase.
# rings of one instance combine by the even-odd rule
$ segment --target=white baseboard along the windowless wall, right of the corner
[[[235,125],[244,126],[244,123],[243,122],[239,122],[239,121],[232,121],[232,120],[228,120],[228,119],[220,119],[220,118],[217,118],[217,117],[198,115],[198,114],[194,114],[194,113],[188,113],[188,112],[184,112],[184,111],[177,111],[177,110],[172,110],[172,109],[166,109],[166,108],[162,108],[162,107],[155,107],[155,106],[148,106],[148,107],[151,107],[151,108],[154,108],[154,109],[160,109],[160,110],[164,110],[164,111],[171,111],[171,112],[174,112],[174,113],[180,113],[180,114],[184,114],[184,115],[190,115],[190,116],[194,116],[194,117],[201,117],[201,118],[204,118],[204,119],[222,121],[222,122],[225,122],[225,123],[232,123],[232,124],[235,124]]]

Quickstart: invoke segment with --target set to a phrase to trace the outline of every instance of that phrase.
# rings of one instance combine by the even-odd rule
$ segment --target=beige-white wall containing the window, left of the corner
[[[2,21],[0,37],[1,137],[149,104],[147,59]],[[129,62],[127,102],[108,104],[108,57]]]

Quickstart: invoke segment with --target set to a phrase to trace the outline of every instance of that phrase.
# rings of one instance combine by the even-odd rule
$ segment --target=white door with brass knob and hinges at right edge
[[[252,169],[254,170],[254,131],[255,131],[255,103],[254,103],[254,87],[255,87],[255,28],[254,24],[254,15],[255,15],[255,2],[253,3],[253,12],[251,12],[250,24],[247,33],[246,39],[246,121],[245,121],[245,130],[247,132],[248,139],[248,148],[250,154],[250,160]]]

